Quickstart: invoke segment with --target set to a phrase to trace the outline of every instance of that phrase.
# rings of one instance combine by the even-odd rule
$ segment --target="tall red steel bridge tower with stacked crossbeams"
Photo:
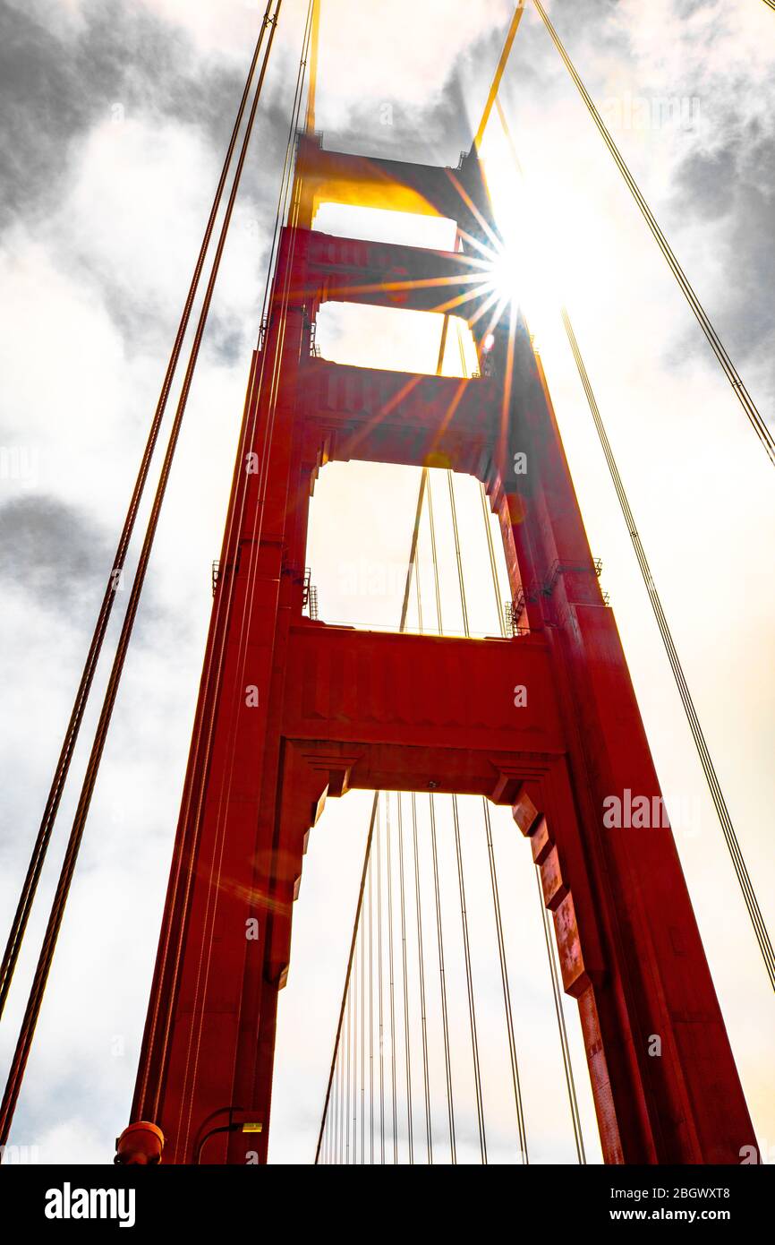
[[[307,222],[321,198],[346,200],[360,187],[363,202],[363,186],[374,205],[402,203],[386,190],[389,177],[469,230],[479,227],[457,184],[488,212],[470,158],[453,173],[304,139],[300,167]],[[282,237],[132,1108],[133,1120],[163,1129],[168,1163],[266,1160],[302,857],[326,797],[351,787],[433,784],[513,807],[541,869],[565,990],[578,1001],[606,1162],[738,1163],[754,1143],[672,832],[603,827],[606,797],[661,793],[524,322],[510,392],[505,325],[485,378],[342,367],[311,354],[326,299],[396,305],[397,273],[406,286],[457,271],[438,251],[307,229]],[[439,301],[425,285],[399,293],[403,306]],[[517,452],[526,474],[513,471]],[[326,462],[348,458],[481,479],[530,634],[473,641],[302,618],[311,488]],[[526,707],[515,707],[517,684]],[[659,1056],[649,1055],[654,1037]]]

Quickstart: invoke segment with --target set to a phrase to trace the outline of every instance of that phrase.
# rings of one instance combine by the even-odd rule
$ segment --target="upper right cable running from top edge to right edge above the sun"
[[[718,332],[713,327],[713,324],[710,322],[710,320],[708,317],[708,315],[707,315],[707,312],[705,312],[702,303],[699,301],[697,294],[694,293],[694,289],[693,289],[693,286],[692,286],[688,276],[685,275],[683,268],[678,263],[678,259],[673,254],[673,250],[672,250],[672,248],[671,248],[667,238],[662,233],[662,229],[657,224],[657,220],[656,220],[656,218],[654,218],[651,208],[648,207],[648,203],[643,198],[643,194],[641,193],[641,189],[639,189],[638,184],[636,183],[632,173],[629,172],[629,168],[624,163],[624,159],[623,159],[623,157],[622,157],[618,147],[616,146],[616,143],[613,142],[613,138],[608,133],[608,129],[606,128],[606,125],[605,125],[605,122],[603,122],[600,112],[597,111],[597,108],[595,106],[595,102],[592,101],[592,97],[590,96],[587,88],[585,87],[583,82],[578,77],[578,73],[576,72],[573,62],[571,61],[570,56],[567,55],[567,52],[566,52],[566,50],[565,50],[565,47],[564,47],[564,45],[562,45],[562,42],[560,40],[560,36],[557,35],[557,31],[555,30],[555,27],[552,26],[551,21],[549,20],[549,16],[547,16],[547,14],[546,14],[546,11],[544,9],[544,5],[540,2],[540,0],[534,0],[534,2],[535,2],[536,9],[539,10],[539,15],[540,15],[544,25],[546,26],[546,30],[549,31],[549,35],[550,35],[550,39],[551,39],[552,44],[555,45],[555,47],[557,49],[557,52],[560,54],[562,63],[565,65],[566,70],[568,71],[572,81],[573,81],[573,83],[575,83],[575,86],[576,86],[576,88],[577,88],[577,91],[578,91],[578,93],[581,96],[581,98],[583,100],[583,102],[585,102],[585,105],[587,107],[587,111],[588,111],[590,116],[592,117],[592,121],[595,122],[595,125],[596,125],[596,127],[597,127],[597,129],[598,129],[598,132],[600,132],[600,134],[601,134],[601,137],[602,137],[602,139],[603,139],[603,142],[606,144],[606,147],[611,152],[611,156],[613,157],[613,161],[616,163],[616,167],[618,168],[620,173],[622,174],[627,188],[629,189],[633,199],[636,200],[636,203],[638,205],[638,208],[641,209],[643,219],[646,220],[646,223],[647,223],[647,225],[648,225],[652,235],[654,237],[654,239],[657,242],[657,245],[659,247],[659,250],[664,255],[664,259],[667,260],[668,266],[671,268],[671,271],[673,273],[675,280],[678,281],[678,285],[679,285],[679,288],[680,288],[684,298],[687,299],[687,303],[692,308],[692,311],[694,312],[694,316],[695,316],[695,319],[697,319],[700,329],[703,330],[705,337],[708,339],[708,342],[710,344],[710,347],[712,347],[715,357],[718,359],[718,361],[719,361],[719,364],[722,366],[722,370],[723,370],[724,375],[726,376],[726,380],[731,385],[733,391],[734,391],[735,396],[738,397],[738,401],[740,402],[743,410],[745,411],[745,415],[748,417],[748,421],[749,421],[751,428],[754,430],[754,432],[756,433],[759,441],[764,446],[770,462],[773,464],[775,464],[775,437],[770,432],[770,428],[768,427],[765,420],[759,413],[759,410],[758,410],[758,407],[756,407],[753,397],[748,392],[745,385],[743,383],[743,380],[740,378],[740,375],[739,375],[735,365],[733,364],[731,359],[729,357],[729,355],[728,355],[728,352],[726,352],[726,350],[724,347],[724,344],[722,342],[722,339],[719,337]],[[765,2],[769,4],[769,0],[765,0]]]

